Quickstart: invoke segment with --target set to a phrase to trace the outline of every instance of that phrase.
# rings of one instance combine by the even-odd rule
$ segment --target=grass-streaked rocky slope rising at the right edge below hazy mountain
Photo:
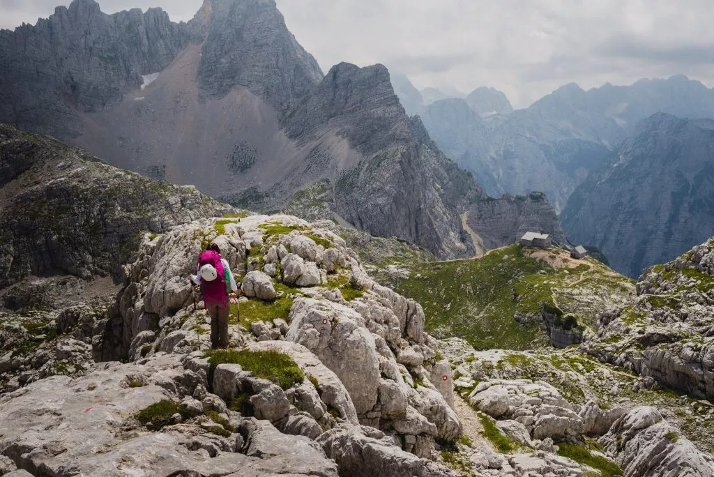
[[[601,340],[583,348],[695,398],[714,396],[714,243],[645,269],[638,296],[598,317]]]

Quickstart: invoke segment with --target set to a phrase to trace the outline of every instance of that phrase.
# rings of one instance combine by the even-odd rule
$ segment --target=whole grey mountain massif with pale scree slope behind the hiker
[[[405,114],[387,69],[324,75],[272,0],[206,0],[187,24],[74,0],[0,31],[0,45],[0,122],[115,166],[261,211],[326,184],[326,218],[444,258],[473,255],[474,234],[494,222],[469,214],[488,196]],[[511,229],[485,235],[510,243],[539,229],[565,241],[553,209],[523,203],[506,198],[496,222]]]

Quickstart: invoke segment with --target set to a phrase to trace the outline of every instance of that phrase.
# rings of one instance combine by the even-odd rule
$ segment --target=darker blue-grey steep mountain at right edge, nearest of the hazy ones
[[[714,121],[651,116],[573,193],[568,236],[630,276],[687,251],[714,234],[713,154]]]

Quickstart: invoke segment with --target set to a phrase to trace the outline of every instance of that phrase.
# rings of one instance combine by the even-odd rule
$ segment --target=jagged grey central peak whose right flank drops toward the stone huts
[[[467,255],[458,211],[483,194],[399,104],[384,66],[339,64],[286,116],[296,141],[345,139],[361,156],[335,164],[334,206],[376,235],[396,235],[440,256]]]

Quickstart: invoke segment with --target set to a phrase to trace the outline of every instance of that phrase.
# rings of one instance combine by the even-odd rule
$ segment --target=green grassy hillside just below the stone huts
[[[524,326],[516,313],[540,313],[541,303],[548,303],[589,326],[601,302],[633,292],[629,278],[590,258],[574,268],[557,268],[533,253],[513,245],[476,259],[418,263],[396,289],[421,303],[427,330],[437,337],[460,336],[476,349],[515,350],[548,344],[538,320]],[[567,256],[558,248],[546,254]]]

